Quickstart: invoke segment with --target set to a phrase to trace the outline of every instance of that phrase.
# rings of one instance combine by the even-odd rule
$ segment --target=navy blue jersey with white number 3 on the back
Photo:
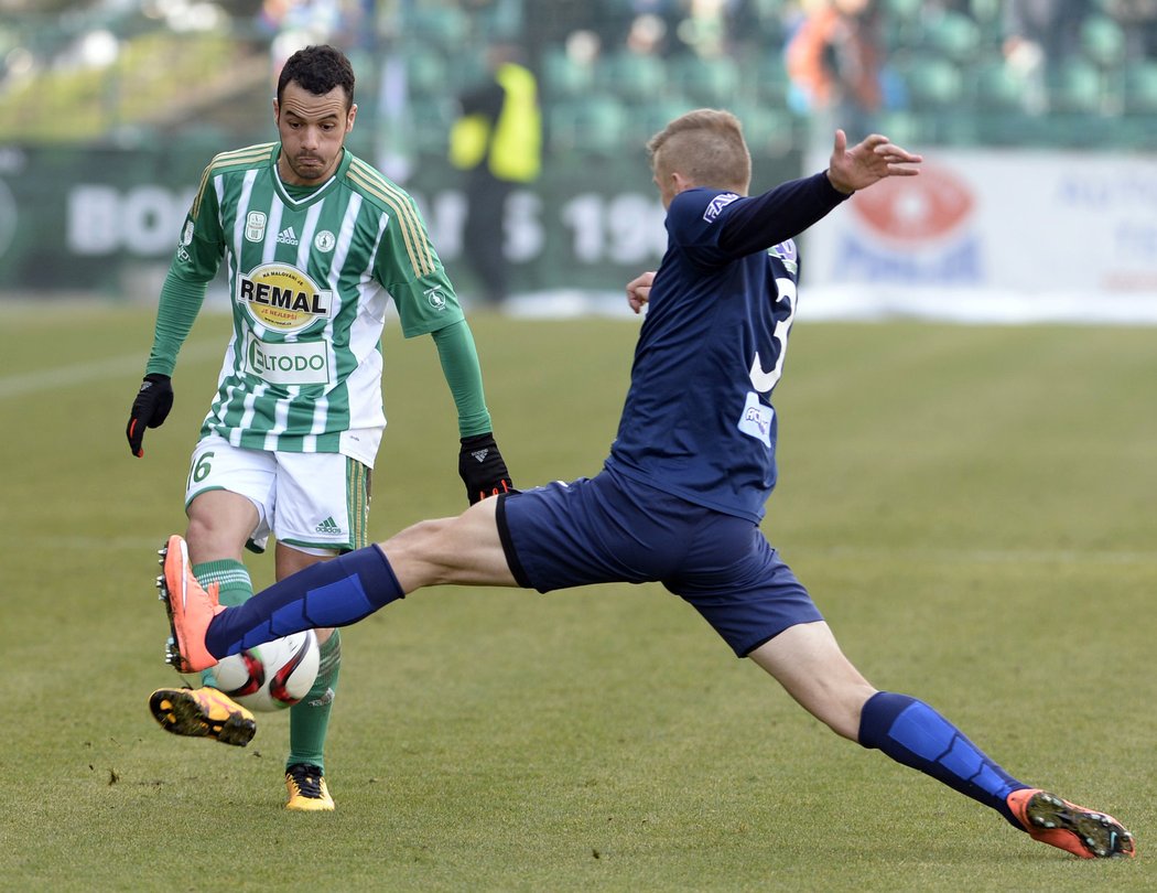
[[[846,196],[826,175],[751,198],[678,193],[607,467],[754,522],[775,486],[772,390],[799,263],[791,240]]]

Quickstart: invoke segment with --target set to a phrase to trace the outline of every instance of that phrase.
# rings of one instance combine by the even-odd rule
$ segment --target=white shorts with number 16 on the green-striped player
[[[340,453],[242,449],[209,434],[197,444],[185,508],[200,493],[228,490],[257,508],[249,548],[265,551],[270,534],[304,551],[349,551],[367,544],[370,469]]]

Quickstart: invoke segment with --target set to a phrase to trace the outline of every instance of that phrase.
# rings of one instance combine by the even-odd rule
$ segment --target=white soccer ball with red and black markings
[[[314,687],[318,656],[314,630],[294,632],[222,658],[213,667],[214,688],[250,710],[283,710]]]

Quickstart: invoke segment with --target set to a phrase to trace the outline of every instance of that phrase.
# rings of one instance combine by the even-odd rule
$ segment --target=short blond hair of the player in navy
[[[679,173],[698,186],[746,192],[751,153],[743,124],[729,111],[695,109],[668,124],[647,141],[656,176]]]

